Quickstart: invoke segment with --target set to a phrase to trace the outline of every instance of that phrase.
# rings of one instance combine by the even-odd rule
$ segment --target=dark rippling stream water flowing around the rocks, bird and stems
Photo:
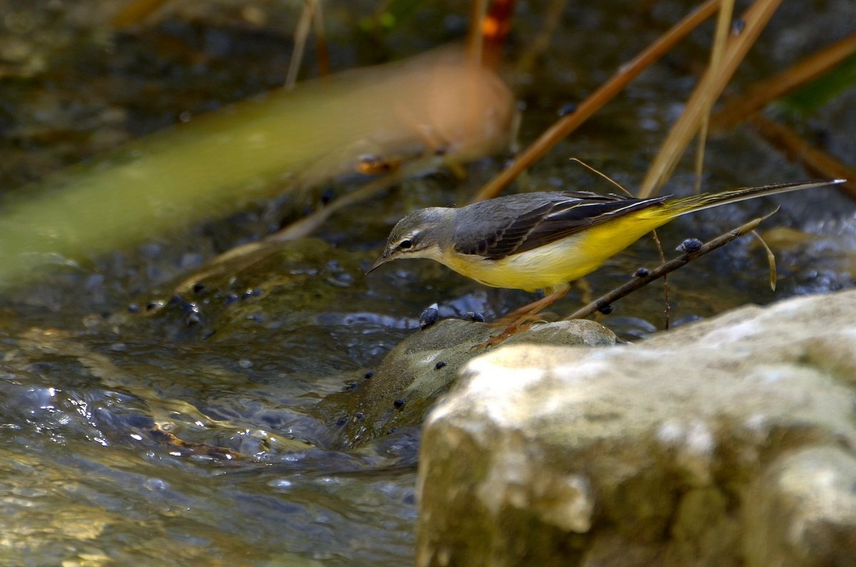
[[[0,2],[4,189],[284,79],[293,6],[176,2],[116,33],[106,27],[107,4]],[[397,29],[379,48],[360,35],[360,17],[372,9],[364,4],[325,3],[334,65],[413,53],[466,30],[464,13],[432,4],[412,22],[430,31],[413,39],[413,27]],[[646,22],[621,13],[623,5],[568,7],[544,60],[509,75],[526,101],[524,140],[687,9],[657,3]],[[799,45],[825,43],[823,22],[846,21],[848,4],[827,9],[811,27],[799,10],[783,11],[774,22],[779,34],[762,41],[775,55],[747,67],[770,73],[804,54]],[[543,10],[521,3],[514,53],[526,50]],[[782,32],[794,29],[800,41]],[[521,183],[614,190],[567,159],[579,157],[632,188],[692,88],[671,68],[704,60],[705,40],[698,33]],[[830,151],[851,163],[854,96],[812,117]],[[406,208],[461,202],[501,164],[502,156],[484,159],[462,181],[446,172],[408,180],[334,215],[317,237],[262,248],[223,272],[206,272],[206,263],[353,183],[250,206],[97,258],[57,258],[49,273],[7,290],[0,300],[0,565],[411,563],[418,432],[345,451],[337,443],[342,424],[318,401],[371,379],[372,367],[434,301],[444,317],[473,311],[493,319],[530,299],[484,289],[428,261],[363,275]],[[689,184],[688,167],[670,190]],[[749,131],[710,142],[711,189],[805,176]],[[777,202],[785,206],[770,227],[799,231],[770,233],[776,294],[764,253],[744,239],[669,277],[673,325],[853,284],[852,202],[829,190]],[[661,231],[666,254],[687,236],[716,236],[770,207],[749,203],[681,219]],[[643,242],[556,311],[656,263],[656,248]],[[626,339],[663,328],[662,286],[651,288],[616,304],[603,323]]]

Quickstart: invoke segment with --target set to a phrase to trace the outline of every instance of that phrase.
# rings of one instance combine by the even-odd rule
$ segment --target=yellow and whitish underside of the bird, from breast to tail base
[[[502,260],[443,254],[442,261],[455,272],[495,288],[561,289],[568,282],[594,272],[603,262],[679,214],[663,209],[658,212],[647,209],[633,212]]]

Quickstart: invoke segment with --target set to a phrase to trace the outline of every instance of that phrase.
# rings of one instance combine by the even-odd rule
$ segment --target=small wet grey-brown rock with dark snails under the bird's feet
[[[414,331],[389,351],[371,379],[325,397],[317,412],[340,424],[341,447],[362,445],[402,427],[420,427],[461,367],[484,353],[473,347],[496,333],[496,327],[461,319]],[[615,335],[594,321],[559,321],[534,325],[503,344],[517,343],[609,346]]]

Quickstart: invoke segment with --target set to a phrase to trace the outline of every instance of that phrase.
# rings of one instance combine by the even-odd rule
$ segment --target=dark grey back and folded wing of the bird
[[[466,206],[455,224],[455,250],[501,260],[555,242],[668,197],[634,199],[581,191],[508,195]]]

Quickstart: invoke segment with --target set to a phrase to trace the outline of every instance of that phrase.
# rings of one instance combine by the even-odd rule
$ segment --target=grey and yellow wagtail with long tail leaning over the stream
[[[577,191],[514,194],[461,208],[432,206],[402,218],[368,272],[401,258],[430,258],[496,288],[544,289],[514,314],[534,314],[568,293],[570,282],[658,226],[688,212],[842,179],[781,183],[679,199],[636,199]]]

